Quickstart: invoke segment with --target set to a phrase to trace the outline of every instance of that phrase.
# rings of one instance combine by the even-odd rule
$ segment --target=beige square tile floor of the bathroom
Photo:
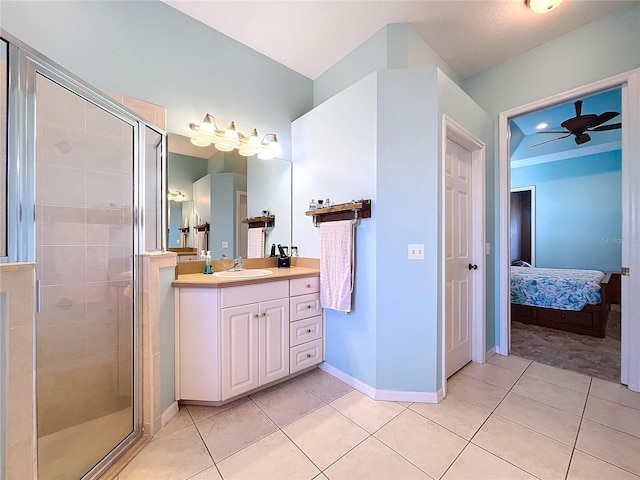
[[[640,393],[519,357],[439,404],[374,401],[321,370],[181,407],[119,480],[640,479]]]

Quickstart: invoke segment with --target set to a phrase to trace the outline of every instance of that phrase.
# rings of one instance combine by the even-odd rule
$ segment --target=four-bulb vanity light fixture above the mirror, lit
[[[216,150],[221,152],[230,152],[235,148],[244,157],[258,155],[261,160],[271,160],[282,155],[275,133],[268,133],[261,140],[255,128],[248,136],[243,135],[236,130],[234,122],[231,122],[226,130],[221,130],[215,118],[208,113],[201,123],[191,123],[189,128],[193,132],[191,143],[197,147],[208,147],[213,143]]]

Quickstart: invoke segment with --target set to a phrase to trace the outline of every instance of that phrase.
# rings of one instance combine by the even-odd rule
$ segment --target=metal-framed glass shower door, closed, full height
[[[36,134],[27,148],[35,156],[41,298],[40,480],[91,477],[140,431],[134,387],[138,125],[74,87],[39,68],[27,85],[33,102],[27,123]]]

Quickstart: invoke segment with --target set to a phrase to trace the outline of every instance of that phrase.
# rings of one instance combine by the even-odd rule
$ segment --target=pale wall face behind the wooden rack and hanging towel
[[[335,203],[372,200],[371,218],[362,220],[356,230],[353,312],[345,315],[325,311],[327,363],[371,386],[376,385],[379,306],[376,99],[374,73],[299,118],[291,127],[295,139],[293,243],[301,256],[320,256],[318,229],[305,215],[312,198],[330,198]],[[344,128],[345,125],[349,128]]]

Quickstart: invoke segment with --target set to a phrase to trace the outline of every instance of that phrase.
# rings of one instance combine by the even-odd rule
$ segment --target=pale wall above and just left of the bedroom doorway
[[[640,67],[640,3],[617,10],[521,55],[462,81],[462,88],[494,119],[500,112],[556,95],[621,72]],[[588,48],[585,46],[588,45]],[[497,128],[496,128],[497,138]],[[487,218],[493,219],[492,251],[498,259],[504,246],[499,243],[499,183],[496,158],[487,162],[487,185],[494,182],[495,200],[487,204]],[[489,228],[489,223],[487,228]],[[506,272],[505,272],[506,274]],[[487,301],[499,304],[497,268],[487,283]],[[492,288],[493,286],[493,288]],[[499,318],[495,318],[496,327]],[[496,345],[499,345],[496,328]]]

